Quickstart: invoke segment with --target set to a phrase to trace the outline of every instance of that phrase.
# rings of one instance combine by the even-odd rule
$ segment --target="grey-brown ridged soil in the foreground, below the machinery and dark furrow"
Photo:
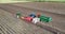
[[[0,10],[1,34],[52,34],[51,32],[15,18],[11,13]]]

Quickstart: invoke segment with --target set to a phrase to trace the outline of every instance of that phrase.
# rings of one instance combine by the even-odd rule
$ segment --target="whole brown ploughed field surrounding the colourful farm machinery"
[[[40,3],[40,4],[42,4],[42,3]],[[38,3],[36,3],[36,4],[38,5]],[[53,5],[47,6],[47,4],[51,5],[50,3],[43,3],[43,4],[44,4],[46,11],[42,11],[40,5],[39,5],[40,10],[38,10],[37,5],[34,5],[34,3],[0,4],[0,33],[1,34],[55,34],[55,33],[50,32],[50,30],[46,30],[43,28],[37,27],[36,24],[28,23],[20,18],[16,18],[17,12],[21,12],[22,16],[27,16],[30,13],[39,12],[46,16],[52,17],[52,19],[53,19],[51,22],[48,22],[48,23],[43,22],[44,24],[49,24],[50,27],[55,27],[58,30],[61,30],[62,33],[60,33],[60,34],[65,34],[65,14],[63,14],[63,13],[58,14],[62,11],[62,10],[60,11],[58,7],[63,8],[63,6],[65,4],[60,5],[60,4],[54,3],[53,5],[60,5],[56,7],[53,7]],[[35,6],[36,6],[36,8],[35,8]],[[48,12],[47,8],[50,8],[50,7],[53,7],[52,12]],[[56,10],[54,10],[54,8],[56,8],[60,12],[55,13]],[[42,26],[42,27],[44,27],[44,26]]]

